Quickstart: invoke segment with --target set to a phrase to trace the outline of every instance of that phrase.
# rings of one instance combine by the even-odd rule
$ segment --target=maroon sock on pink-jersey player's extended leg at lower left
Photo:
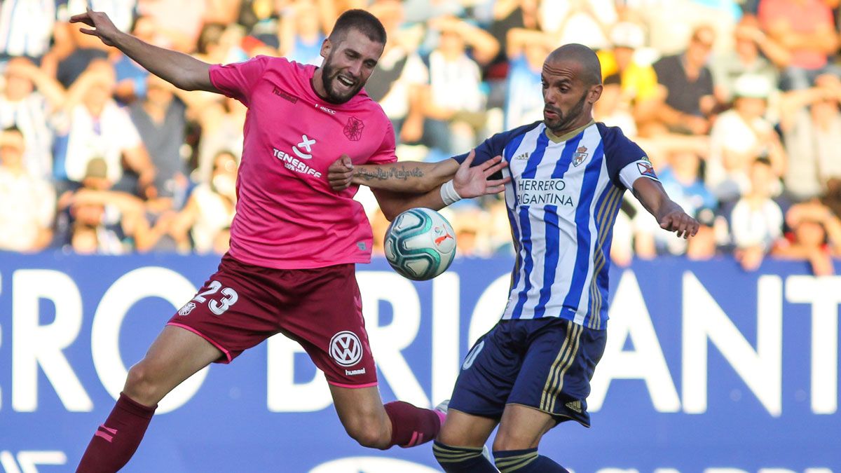
[[[114,410],[87,444],[77,473],[114,473],[128,463],[156,407],[145,407],[120,393]]]

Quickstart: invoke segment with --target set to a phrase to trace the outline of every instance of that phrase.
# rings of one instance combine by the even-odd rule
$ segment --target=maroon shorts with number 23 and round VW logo
[[[225,255],[216,274],[167,325],[213,343],[225,353],[218,363],[283,333],[304,347],[332,385],[377,384],[353,264],[272,269]]]

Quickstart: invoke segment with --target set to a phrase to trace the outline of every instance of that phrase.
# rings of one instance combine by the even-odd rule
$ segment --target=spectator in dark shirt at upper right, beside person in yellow
[[[716,99],[706,61],[714,40],[710,26],[698,27],[684,52],[654,63],[657,81],[664,88],[657,116],[669,130],[695,135],[705,135],[709,130]]]

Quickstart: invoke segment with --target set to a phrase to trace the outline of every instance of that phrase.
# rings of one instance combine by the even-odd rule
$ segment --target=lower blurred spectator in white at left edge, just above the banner
[[[16,127],[0,132],[0,250],[36,252],[50,242],[56,193],[24,166],[26,141]]]

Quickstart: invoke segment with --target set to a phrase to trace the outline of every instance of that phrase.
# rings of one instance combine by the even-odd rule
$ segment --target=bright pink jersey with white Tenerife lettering
[[[327,168],[394,162],[394,129],[364,91],[345,104],[312,88],[315,66],[282,57],[210,67],[210,81],[248,107],[230,255],[265,268],[371,261],[372,233],[357,188],[334,192]]]

